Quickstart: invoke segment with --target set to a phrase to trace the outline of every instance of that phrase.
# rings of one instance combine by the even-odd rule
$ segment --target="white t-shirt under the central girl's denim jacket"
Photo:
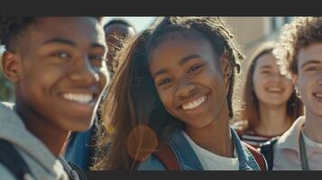
[[[205,170],[239,170],[237,152],[234,150],[234,157],[221,157],[205,148],[199,147],[189,135],[182,131],[183,136],[188,140],[191,148],[195,151],[201,165]]]

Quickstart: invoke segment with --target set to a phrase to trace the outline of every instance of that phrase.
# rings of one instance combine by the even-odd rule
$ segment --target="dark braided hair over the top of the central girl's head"
[[[165,17],[156,21],[152,25],[155,31],[148,43],[148,52],[151,52],[162,40],[167,38],[169,33],[175,31],[190,31],[189,35],[197,35],[204,37],[210,41],[210,44],[216,51],[216,56],[229,59],[232,67],[232,76],[229,79],[229,89],[227,94],[227,102],[229,108],[229,116],[232,118],[233,103],[232,96],[235,85],[236,73],[240,71],[240,61],[244,60],[238,44],[235,42],[234,35],[229,31],[229,27],[220,17]],[[197,38],[198,38],[197,37]],[[219,63],[219,62],[217,62]]]

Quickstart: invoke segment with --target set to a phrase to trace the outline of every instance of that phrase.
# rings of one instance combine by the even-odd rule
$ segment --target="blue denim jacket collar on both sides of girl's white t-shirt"
[[[238,155],[239,169],[259,170],[260,168],[251,152],[242,144],[237,133],[232,128],[231,133]],[[187,139],[184,138],[181,130],[174,130],[168,143],[179,161],[181,170],[204,170],[196,153],[190,147]]]

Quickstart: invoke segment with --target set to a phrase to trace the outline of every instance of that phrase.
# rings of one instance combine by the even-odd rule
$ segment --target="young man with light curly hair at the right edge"
[[[275,54],[305,105],[274,148],[273,170],[322,170],[322,18],[298,18],[286,25]]]

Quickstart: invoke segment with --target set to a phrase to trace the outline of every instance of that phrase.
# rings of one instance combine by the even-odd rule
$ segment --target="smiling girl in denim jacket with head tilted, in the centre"
[[[259,152],[230,127],[243,55],[220,18],[161,18],[120,53],[106,100],[109,135],[101,140],[110,148],[97,169],[260,169],[250,150]]]

